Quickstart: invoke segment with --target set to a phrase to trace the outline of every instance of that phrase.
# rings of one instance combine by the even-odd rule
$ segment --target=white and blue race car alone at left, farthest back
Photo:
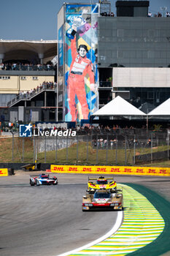
[[[42,173],[39,176],[30,176],[30,185],[31,186],[40,186],[40,185],[57,185],[58,178],[50,177],[49,174]]]

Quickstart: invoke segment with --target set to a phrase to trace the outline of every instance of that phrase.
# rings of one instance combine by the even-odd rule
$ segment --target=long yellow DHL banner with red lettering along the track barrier
[[[83,165],[51,165],[52,173],[93,173],[170,176],[170,168],[162,167],[129,167],[129,166],[83,166]]]

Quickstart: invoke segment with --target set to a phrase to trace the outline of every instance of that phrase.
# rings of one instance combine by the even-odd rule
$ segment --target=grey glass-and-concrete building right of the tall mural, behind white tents
[[[148,113],[170,97],[170,18],[147,17],[149,1],[116,6],[117,17],[98,17],[99,105],[112,77],[109,97],[120,95]]]

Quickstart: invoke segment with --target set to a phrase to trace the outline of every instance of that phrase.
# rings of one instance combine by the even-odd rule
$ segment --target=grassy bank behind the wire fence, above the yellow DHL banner
[[[53,143],[53,141],[52,141]],[[12,154],[13,148],[13,154]],[[165,151],[167,146],[152,148],[152,152]],[[150,148],[136,148],[136,154],[148,154]],[[34,162],[34,141],[31,138],[1,138],[0,162]],[[38,162],[58,165],[133,165],[134,148],[93,148],[91,142],[79,142],[69,148],[38,153]],[[136,166],[170,167],[169,161],[136,164]]]

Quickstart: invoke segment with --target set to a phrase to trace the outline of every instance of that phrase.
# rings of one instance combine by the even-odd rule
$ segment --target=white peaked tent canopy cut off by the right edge
[[[170,116],[170,98],[147,114],[148,116]]]

